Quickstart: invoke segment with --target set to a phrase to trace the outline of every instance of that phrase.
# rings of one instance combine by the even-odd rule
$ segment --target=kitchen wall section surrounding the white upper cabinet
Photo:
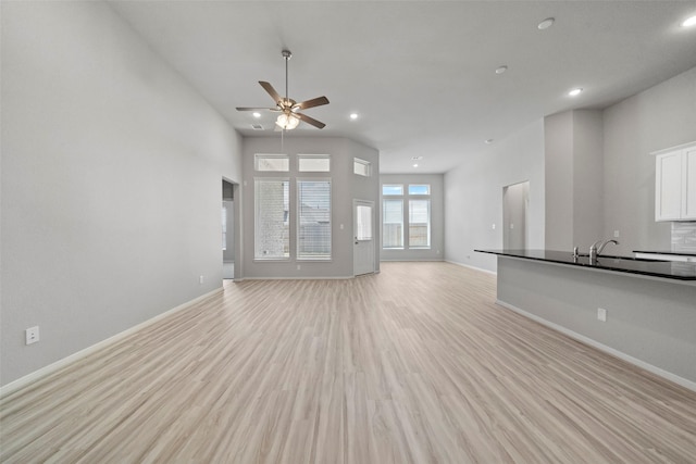
[[[696,140],[696,67],[604,112],[605,236],[621,254],[670,250],[670,223],[655,222],[652,151]]]

